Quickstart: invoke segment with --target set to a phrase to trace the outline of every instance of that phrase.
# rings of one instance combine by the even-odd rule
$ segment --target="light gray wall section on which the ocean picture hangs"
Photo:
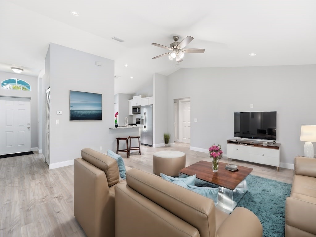
[[[96,66],[96,61],[102,66]],[[80,157],[86,147],[99,151],[102,146],[105,153],[114,149],[109,135],[114,122],[114,61],[51,43],[45,64],[43,87],[49,86],[51,93],[51,164]],[[69,90],[102,94],[102,120],[70,121]],[[57,115],[58,110],[62,115]]]

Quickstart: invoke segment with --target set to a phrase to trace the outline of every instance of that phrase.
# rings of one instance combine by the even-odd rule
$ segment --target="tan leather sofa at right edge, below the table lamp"
[[[316,236],[316,159],[295,157],[291,196],[285,204],[285,236]]]

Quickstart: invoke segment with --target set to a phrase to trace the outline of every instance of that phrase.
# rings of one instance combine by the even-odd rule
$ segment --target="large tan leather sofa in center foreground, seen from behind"
[[[262,237],[250,210],[237,207],[228,215],[212,199],[135,168],[126,180],[115,185],[116,237]]]

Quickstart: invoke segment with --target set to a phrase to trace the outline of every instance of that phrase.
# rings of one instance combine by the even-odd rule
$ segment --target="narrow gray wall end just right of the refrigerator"
[[[167,76],[161,74],[154,74],[154,145],[161,146],[164,145],[163,134],[167,132],[167,117],[168,121],[173,117],[169,118],[167,116]],[[172,103],[173,104],[173,103]],[[170,132],[169,132],[170,133]]]

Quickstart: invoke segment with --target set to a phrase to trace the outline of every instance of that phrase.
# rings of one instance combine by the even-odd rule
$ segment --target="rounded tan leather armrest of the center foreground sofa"
[[[243,207],[237,207],[217,230],[218,237],[262,237],[262,234],[258,217]]]

